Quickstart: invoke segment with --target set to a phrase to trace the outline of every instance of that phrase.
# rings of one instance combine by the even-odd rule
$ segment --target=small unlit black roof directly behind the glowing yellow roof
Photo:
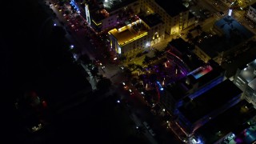
[[[159,23],[163,23],[159,14],[150,14],[146,17],[141,17],[141,19],[146,23],[147,26],[150,27],[157,26]]]

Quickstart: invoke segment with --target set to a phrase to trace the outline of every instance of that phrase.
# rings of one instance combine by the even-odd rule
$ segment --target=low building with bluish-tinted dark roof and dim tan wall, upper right
[[[234,18],[226,16],[214,24],[213,36],[207,36],[195,43],[194,54],[204,62],[213,59],[222,64],[226,58],[241,54],[242,45],[254,38],[254,34],[237,22]]]

